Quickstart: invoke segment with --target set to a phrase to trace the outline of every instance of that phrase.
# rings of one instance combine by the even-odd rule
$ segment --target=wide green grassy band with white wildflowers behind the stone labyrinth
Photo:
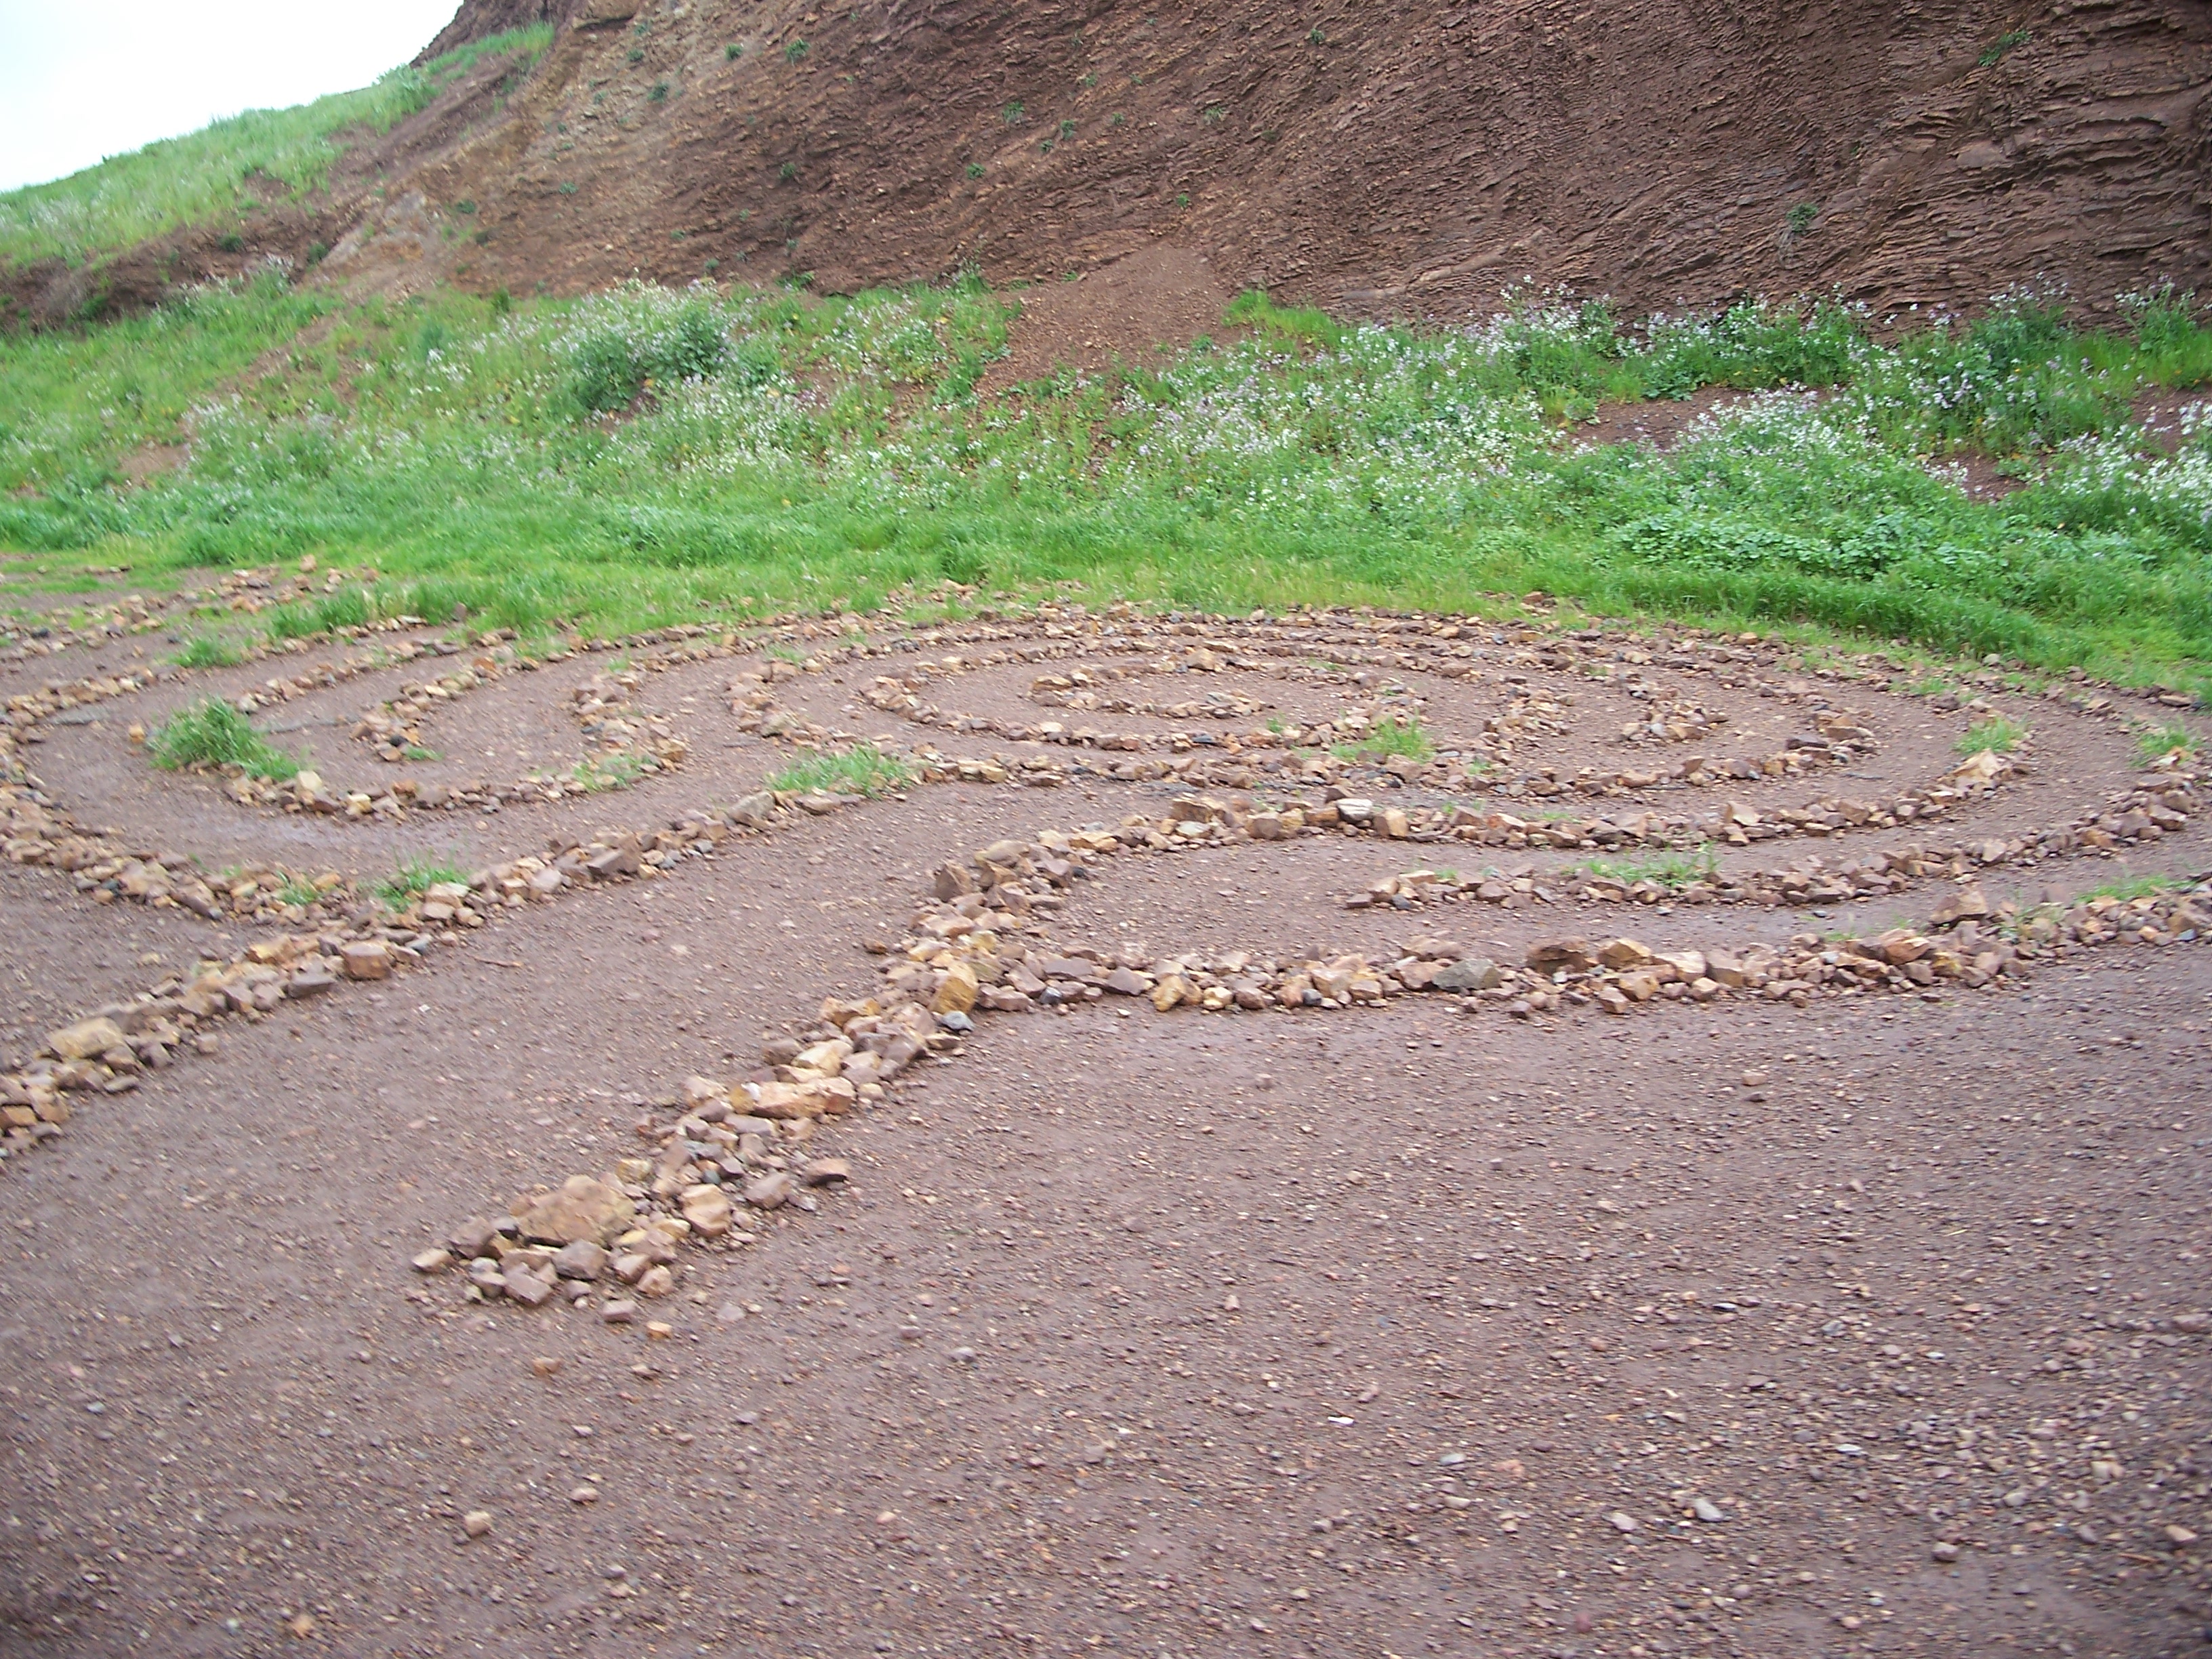
[[[0,343],[0,409],[31,411],[0,416],[0,544],[142,571],[369,560],[392,606],[526,630],[942,582],[1208,611],[1546,588],[2185,684],[2212,659],[2212,447],[2146,460],[2126,418],[2139,389],[2212,372],[2181,301],[2126,336],[2011,305],[1893,345],[1838,310],[1413,334],[1245,301],[1232,321],[1241,341],[1166,369],[978,405],[1004,307],[975,288],[502,312],[265,283]],[[1714,383],[1829,396],[1666,458],[1557,442],[1599,398]],[[117,458],[188,405],[190,471],[117,489]],[[1931,471],[1960,445],[2028,487],[1971,500]]]

